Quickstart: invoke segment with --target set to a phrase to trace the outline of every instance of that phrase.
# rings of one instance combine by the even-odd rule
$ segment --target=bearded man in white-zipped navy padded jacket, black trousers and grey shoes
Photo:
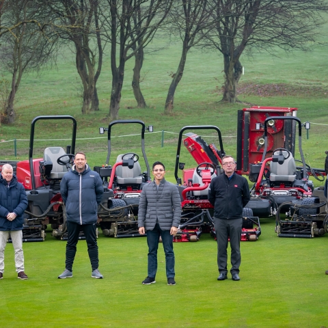
[[[60,183],[60,193],[66,206],[66,225],[68,240],[66,245],[66,269],[59,279],[70,278],[72,266],[77,252],[79,232],[83,230],[87,241],[92,277],[102,279],[98,271],[98,245],[96,236],[96,223],[98,219],[97,208],[102,200],[102,180],[98,173],[92,171],[87,165],[84,152],[77,152],[74,158],[72,171],[66,173]]]

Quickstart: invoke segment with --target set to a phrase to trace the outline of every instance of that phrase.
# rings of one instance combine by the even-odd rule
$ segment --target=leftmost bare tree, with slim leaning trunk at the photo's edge
[[[46,29],[40,31],[36,25],[20,24],[24,21],[38,21],[41,18],[39,11],[38,1],[11,0],[1,17],[6,25],[15,26],[10,33],[3,34],[0,48],[3,69],[12,74],[10,94],[1,118],[7,124],[15,120],[14,100],[23,73],[39,70],[51,59],[53,53],[55,43],[51,42]]]

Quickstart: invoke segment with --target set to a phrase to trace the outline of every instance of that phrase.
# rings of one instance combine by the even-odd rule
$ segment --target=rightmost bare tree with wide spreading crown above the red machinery
[[[242,74],[241,55],[275,47],[310,50],[327,12],[325,0],[209,0],[210,30],[204,30],[202,46],[223,55],[223,101],[236,102],[236,85]]]

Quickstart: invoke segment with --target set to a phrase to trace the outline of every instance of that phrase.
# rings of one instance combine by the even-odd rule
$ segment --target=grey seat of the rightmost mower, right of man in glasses
[[[282,154],[286,157],[288,156],[288,152],[285,150],[282,151]],[[273,155],[279,155],[279,152],[275,152]],[[284,163],[279,164],[277,162],[271,161],[270,164],[270,181],[272,182],[294,182],[296,178],[295,172],[296,164],[294,157],[292,154],[288,157],[288,159],[284,160]]]

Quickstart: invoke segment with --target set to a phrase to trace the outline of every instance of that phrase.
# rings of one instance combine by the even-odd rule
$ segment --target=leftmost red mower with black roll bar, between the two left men
[[[66,151],[61,147],[47,147],[43,158],[33,159],[36,122],[40,120],[68,120],[72,122],[72,139]],[[60,195],[60,182],[74,161],[77,121],[69,115],[38,116],[31,122],[29,160],[16,165],[17,180],[23,183],[29,206],[25,211],[23,241],[44,241],[46,225],[51,224],[52,235],[66,240],[66,210]],[[105,190],[102,202],[113,194]],[[80,239],[84,239],[81,232]]]

